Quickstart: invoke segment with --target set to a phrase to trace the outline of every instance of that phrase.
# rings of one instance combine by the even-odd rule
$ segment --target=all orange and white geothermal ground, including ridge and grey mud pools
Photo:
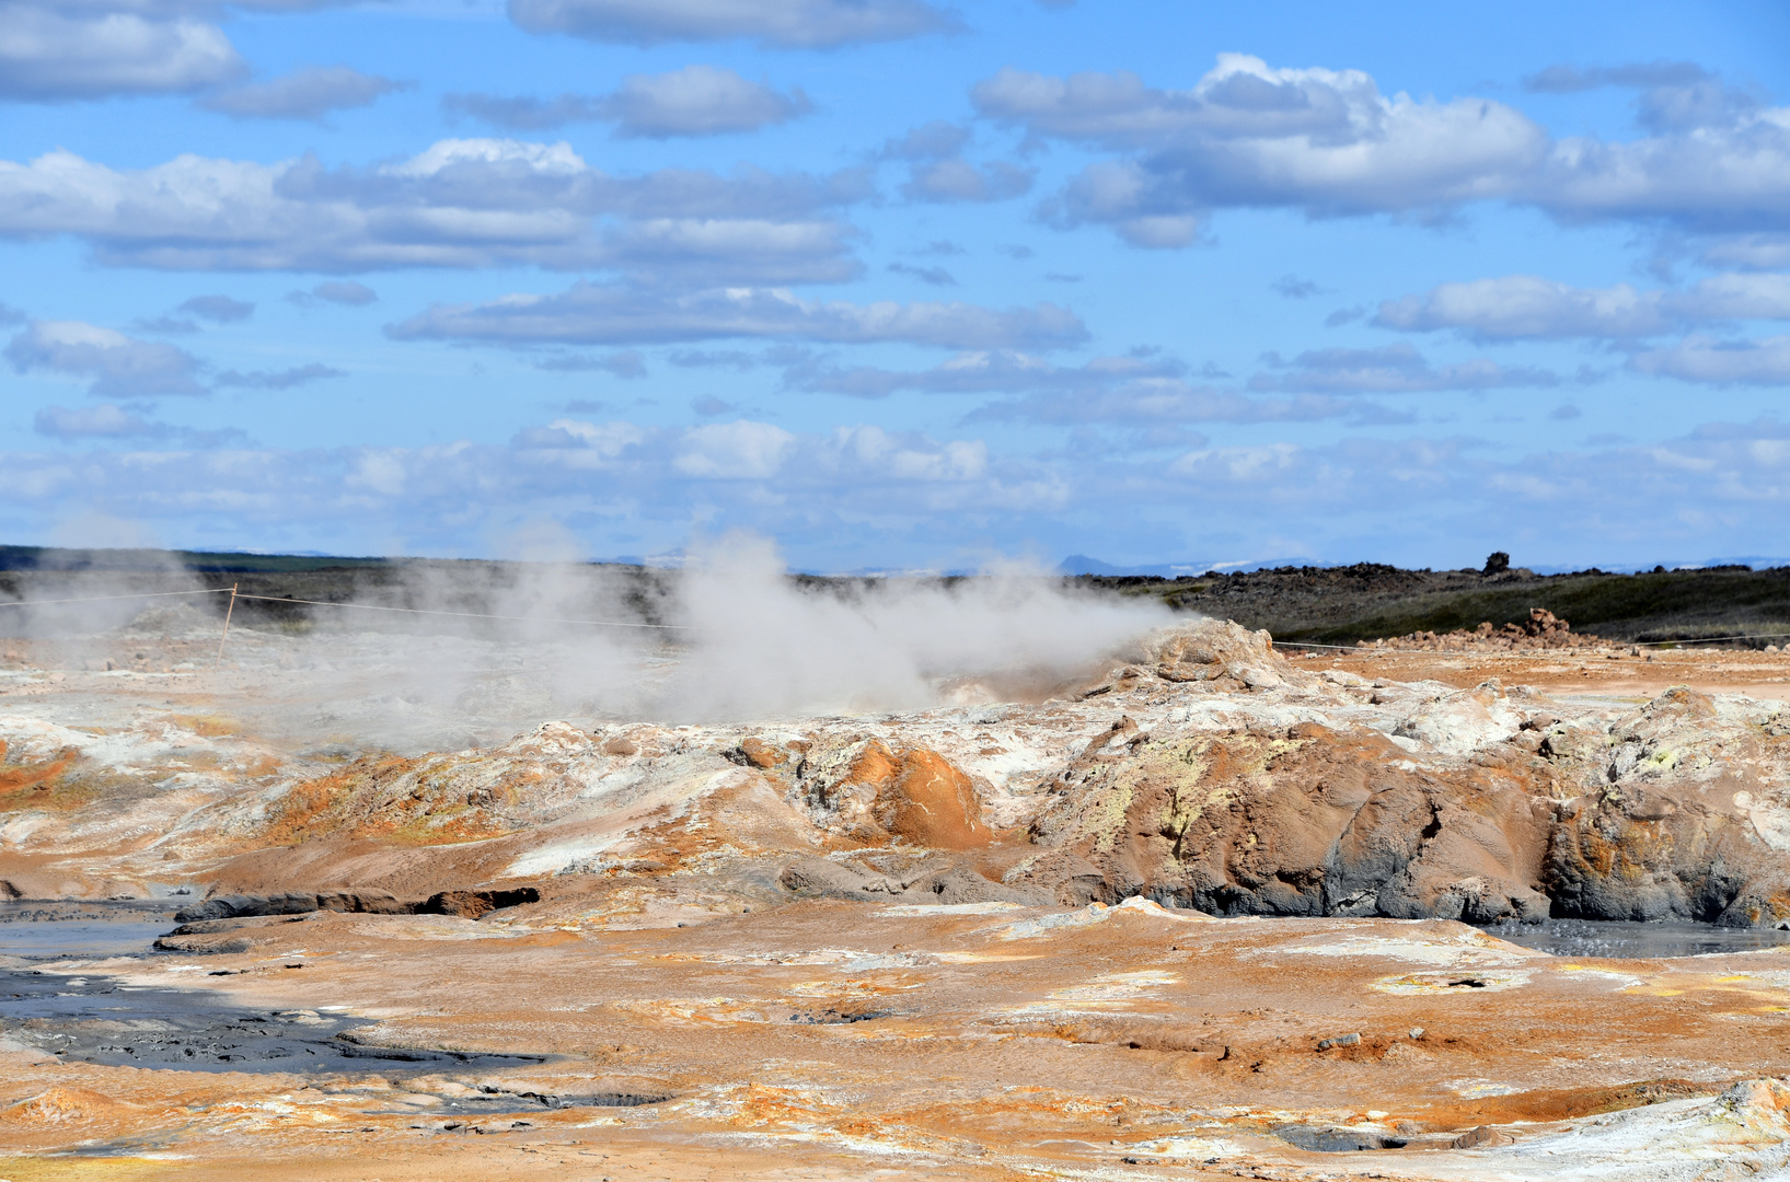
[[[1790,654],[1183,621],[673,726],[145,619],[7,642],[11,1182],[1790,1177]]]

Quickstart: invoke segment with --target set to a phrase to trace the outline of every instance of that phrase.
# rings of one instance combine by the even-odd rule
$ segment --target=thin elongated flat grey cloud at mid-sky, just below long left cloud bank
[[[782,290],[727,288],[661,295],[578,283],[558,295],[508,295],[487,304],[435,304],[392,325],[397,340],[487,343],[687,343],[721,338],[1053,349],[1087,340],[1067,308],[1042,302],[1006,311],[976,304],[850,304],[804,300]]]

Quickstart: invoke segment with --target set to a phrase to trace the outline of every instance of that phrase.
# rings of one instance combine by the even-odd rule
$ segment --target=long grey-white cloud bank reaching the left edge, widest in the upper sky
[[[118,172],[55,150],[0,161],[0,236],[72,234],[100,263],[170,270],[533,263],[814,283],[857,274],[827,211],[866,191],[859,172],[614,177],[566,143],[516,139],[442,139],[372,168],[183,156]]]

